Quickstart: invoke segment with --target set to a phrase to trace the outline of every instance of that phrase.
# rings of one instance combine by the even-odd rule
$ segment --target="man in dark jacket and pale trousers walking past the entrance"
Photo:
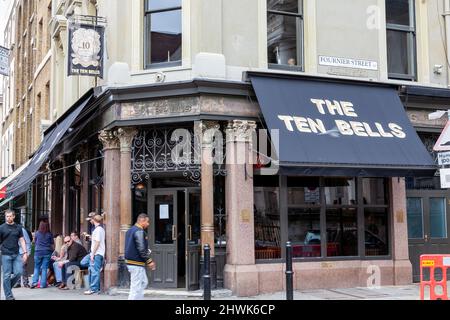
[[[150,225],[148,215],[138,216],[136,224],[125,235],[125,263],[131,276],[128,300],[142,300],[148,279],[145,267],[155,270],[156,265],[150,258],[148,237],[145,229]]]

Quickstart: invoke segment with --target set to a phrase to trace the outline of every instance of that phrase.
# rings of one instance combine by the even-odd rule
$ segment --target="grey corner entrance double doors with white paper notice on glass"
[[[200,189],[152,189],[150,248],[152,288],[199,288]]]

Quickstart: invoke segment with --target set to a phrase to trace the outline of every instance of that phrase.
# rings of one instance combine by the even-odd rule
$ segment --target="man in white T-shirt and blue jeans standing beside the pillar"
[[[84,294],[90,295],[100,293],[100,271],[105,259],[105,229],[101,226],[103,217],[96,215],[93,218],[95,229],[92,232],[90,265],[89,265],[89,285],[90,289]]]

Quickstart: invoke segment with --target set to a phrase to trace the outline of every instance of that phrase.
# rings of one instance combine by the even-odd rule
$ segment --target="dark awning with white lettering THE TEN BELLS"
[[[435,166],[390,86],[249,73],[280,173],[428,176]]]

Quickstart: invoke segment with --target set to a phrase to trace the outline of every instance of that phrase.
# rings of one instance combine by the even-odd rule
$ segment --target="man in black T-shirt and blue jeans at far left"
[[[20,280],[23,264],[27,262],[29,252],[23,237],[22,227],[14,223],[13,210],[5,212],[6,223],[0,226],[0,245],[2,246],[3,290],[6,300],[15,300],[12,288]],[[23,254],[19,254],[19,243]]]

